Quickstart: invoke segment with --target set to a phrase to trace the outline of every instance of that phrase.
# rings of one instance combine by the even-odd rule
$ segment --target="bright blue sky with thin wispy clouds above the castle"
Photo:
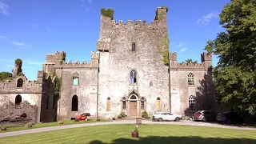
[[[201,62],[206,41],[224,31],[218,14],[230,0],[0,0],[0,71],[14,67],[21,58],[22,70],[37,79],[46,54],[66,52],[66,61],[90,61],[99,38],[100,10],[114,10],[114,20],[146,20],[150,23],[158,6],[168,6],[170,51],[178,62],[188,58]],[[218,59],[214,57],[213,65]]]

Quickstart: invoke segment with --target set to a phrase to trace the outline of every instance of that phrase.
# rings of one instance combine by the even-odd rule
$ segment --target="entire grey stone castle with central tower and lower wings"
[[[145,110],[184,116],[214,109],[212,54],[201,54],[202,63],[177,62],[177,53],[169,51],[167,11],[158,7],[149,24],[115,22],[103,10],[91,61],[66,62],[65,52],[46,54],[37,81],[28,81],[22,63],[16,63],[14,78],[0,83],[0,116],[13,110],[34,122],[52,122],[85,112],[92,118],[121,112],[140,118]]]

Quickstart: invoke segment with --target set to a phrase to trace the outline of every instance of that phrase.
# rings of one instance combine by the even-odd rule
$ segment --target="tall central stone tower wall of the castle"
[[[166,10],[158,9],[158,13],[163,13],[162,19],[154,20],[152,24],[140,21],[116,24],[102,16],[97,43],[97,50],[101,51],[98,82],[98,113],[101,117],[111,118],[120,114],[121,98],[129,98],[132,91],[138,92],[139,98],[146,98],[146,111],[150,114],[157,110],[158,97],[162,99],[161,110],[170,110],[169,66],[164,65],[162,54],[158,52],[158,46],[167,34]],[[132,51],[133,42],[135,52]],[[131,70],[138,73],[135,85],[130,84]],[[108,97],[110,111],[106,111]],[[141,112],[137,112],[139,116]]]

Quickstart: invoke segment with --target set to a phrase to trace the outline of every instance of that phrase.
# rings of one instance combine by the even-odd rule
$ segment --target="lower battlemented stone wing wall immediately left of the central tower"
[[[97,113],[98,55],[92,53],[91,61],[68,62],[55,66],[56,74],[62,78],[58,100],[58,120],[70,120],[76,114],[89,112],[92,118]],[[78,86],[73,85],[74,74],[78,75]],[[72,98],[78,96],[78,111],[71,111]]]

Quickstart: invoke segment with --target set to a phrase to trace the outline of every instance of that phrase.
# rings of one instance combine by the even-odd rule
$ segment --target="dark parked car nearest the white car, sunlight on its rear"
[[[211,110],[198,110],[194,113],[194,121],[210,122],[216,121],[216,115],[214,111]]]

